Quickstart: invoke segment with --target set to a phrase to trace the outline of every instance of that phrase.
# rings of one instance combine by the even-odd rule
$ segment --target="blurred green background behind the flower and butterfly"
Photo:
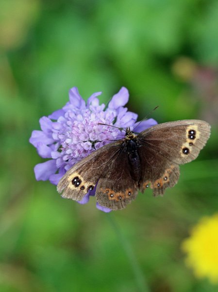
[[[151,292],[218,291],[181,250],[218,211],[218,1],[1,0],[0,26],[0,291],[140,291],[126,244]],[[211,138],[163,198],[110,215],[62,200],[28,140],[73,86],[101,102],[125,86],[139,119],[159,105],[159,123],[203,119]]]

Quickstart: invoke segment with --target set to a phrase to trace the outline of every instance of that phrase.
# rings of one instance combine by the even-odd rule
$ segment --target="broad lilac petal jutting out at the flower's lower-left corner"
[[[57,170],[56,161],[48,160],[43,163],[36,164],[34,167],[35,178],[37,181],[47,181],[51,174]]]

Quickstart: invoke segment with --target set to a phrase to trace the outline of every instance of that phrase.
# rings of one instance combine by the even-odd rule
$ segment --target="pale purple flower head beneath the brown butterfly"
[[[85,104],[78,89],[73,87],[69,91],[69,102],[63,109],[39,120],[41,130],[32,132],[30,143],[42,158],[50,160],[35,165],[37,181],[49,180],[57,185],[71,166],[96,149],[125,136],[124,131],[99,123],[124,129],[130,127],[136,132],[157,124],[149,119],[137,127],[137,114],[124,108],[129,99],[129,92],[125,87],[112,97],[107,108],[104,104],[99,104],[97,96],[100,94],[101,92],[93,93]],[[80,203],[88,202],[90,195],[94,196],[95,190],[89,191]],[[97,208],[104,212],[110,211],[98,204]]]

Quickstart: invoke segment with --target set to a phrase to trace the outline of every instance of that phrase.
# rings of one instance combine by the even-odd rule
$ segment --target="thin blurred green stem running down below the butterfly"
[[[107,219],[109,220],[111,226],[113,227],[120,244],[122,245],[123,249],[126,252],[126,255],[129,258],[130,264],[132,266],[135,281],[138,287],[138,291],[140,292],[149,292],[150,289],[148,287],[148,284],[146,283],[146,279],[144,274],[142,273],[142,270],[137,262],[137,259],[135,258],[134,251],[132,249],[132,246],[126,239],[126,237],[121,232],[116,220],[114,219],[114,216],[111,213],[107,213]]]

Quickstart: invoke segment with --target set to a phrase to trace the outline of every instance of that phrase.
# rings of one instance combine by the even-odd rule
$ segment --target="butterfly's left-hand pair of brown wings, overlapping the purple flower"
[[[136,197],[124,140],[101,147],[71,167],[58,183],[57,191],[63,191],[63,198],[81,201],[97,183],[96,199],[101,206],[122,209]]]

